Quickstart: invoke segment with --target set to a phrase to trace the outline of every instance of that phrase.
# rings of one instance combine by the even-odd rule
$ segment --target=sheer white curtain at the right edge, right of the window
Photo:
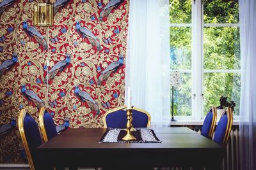
[[[239,0],[241,102],[239,145],[241,170],[256,169],[256,1]]]

